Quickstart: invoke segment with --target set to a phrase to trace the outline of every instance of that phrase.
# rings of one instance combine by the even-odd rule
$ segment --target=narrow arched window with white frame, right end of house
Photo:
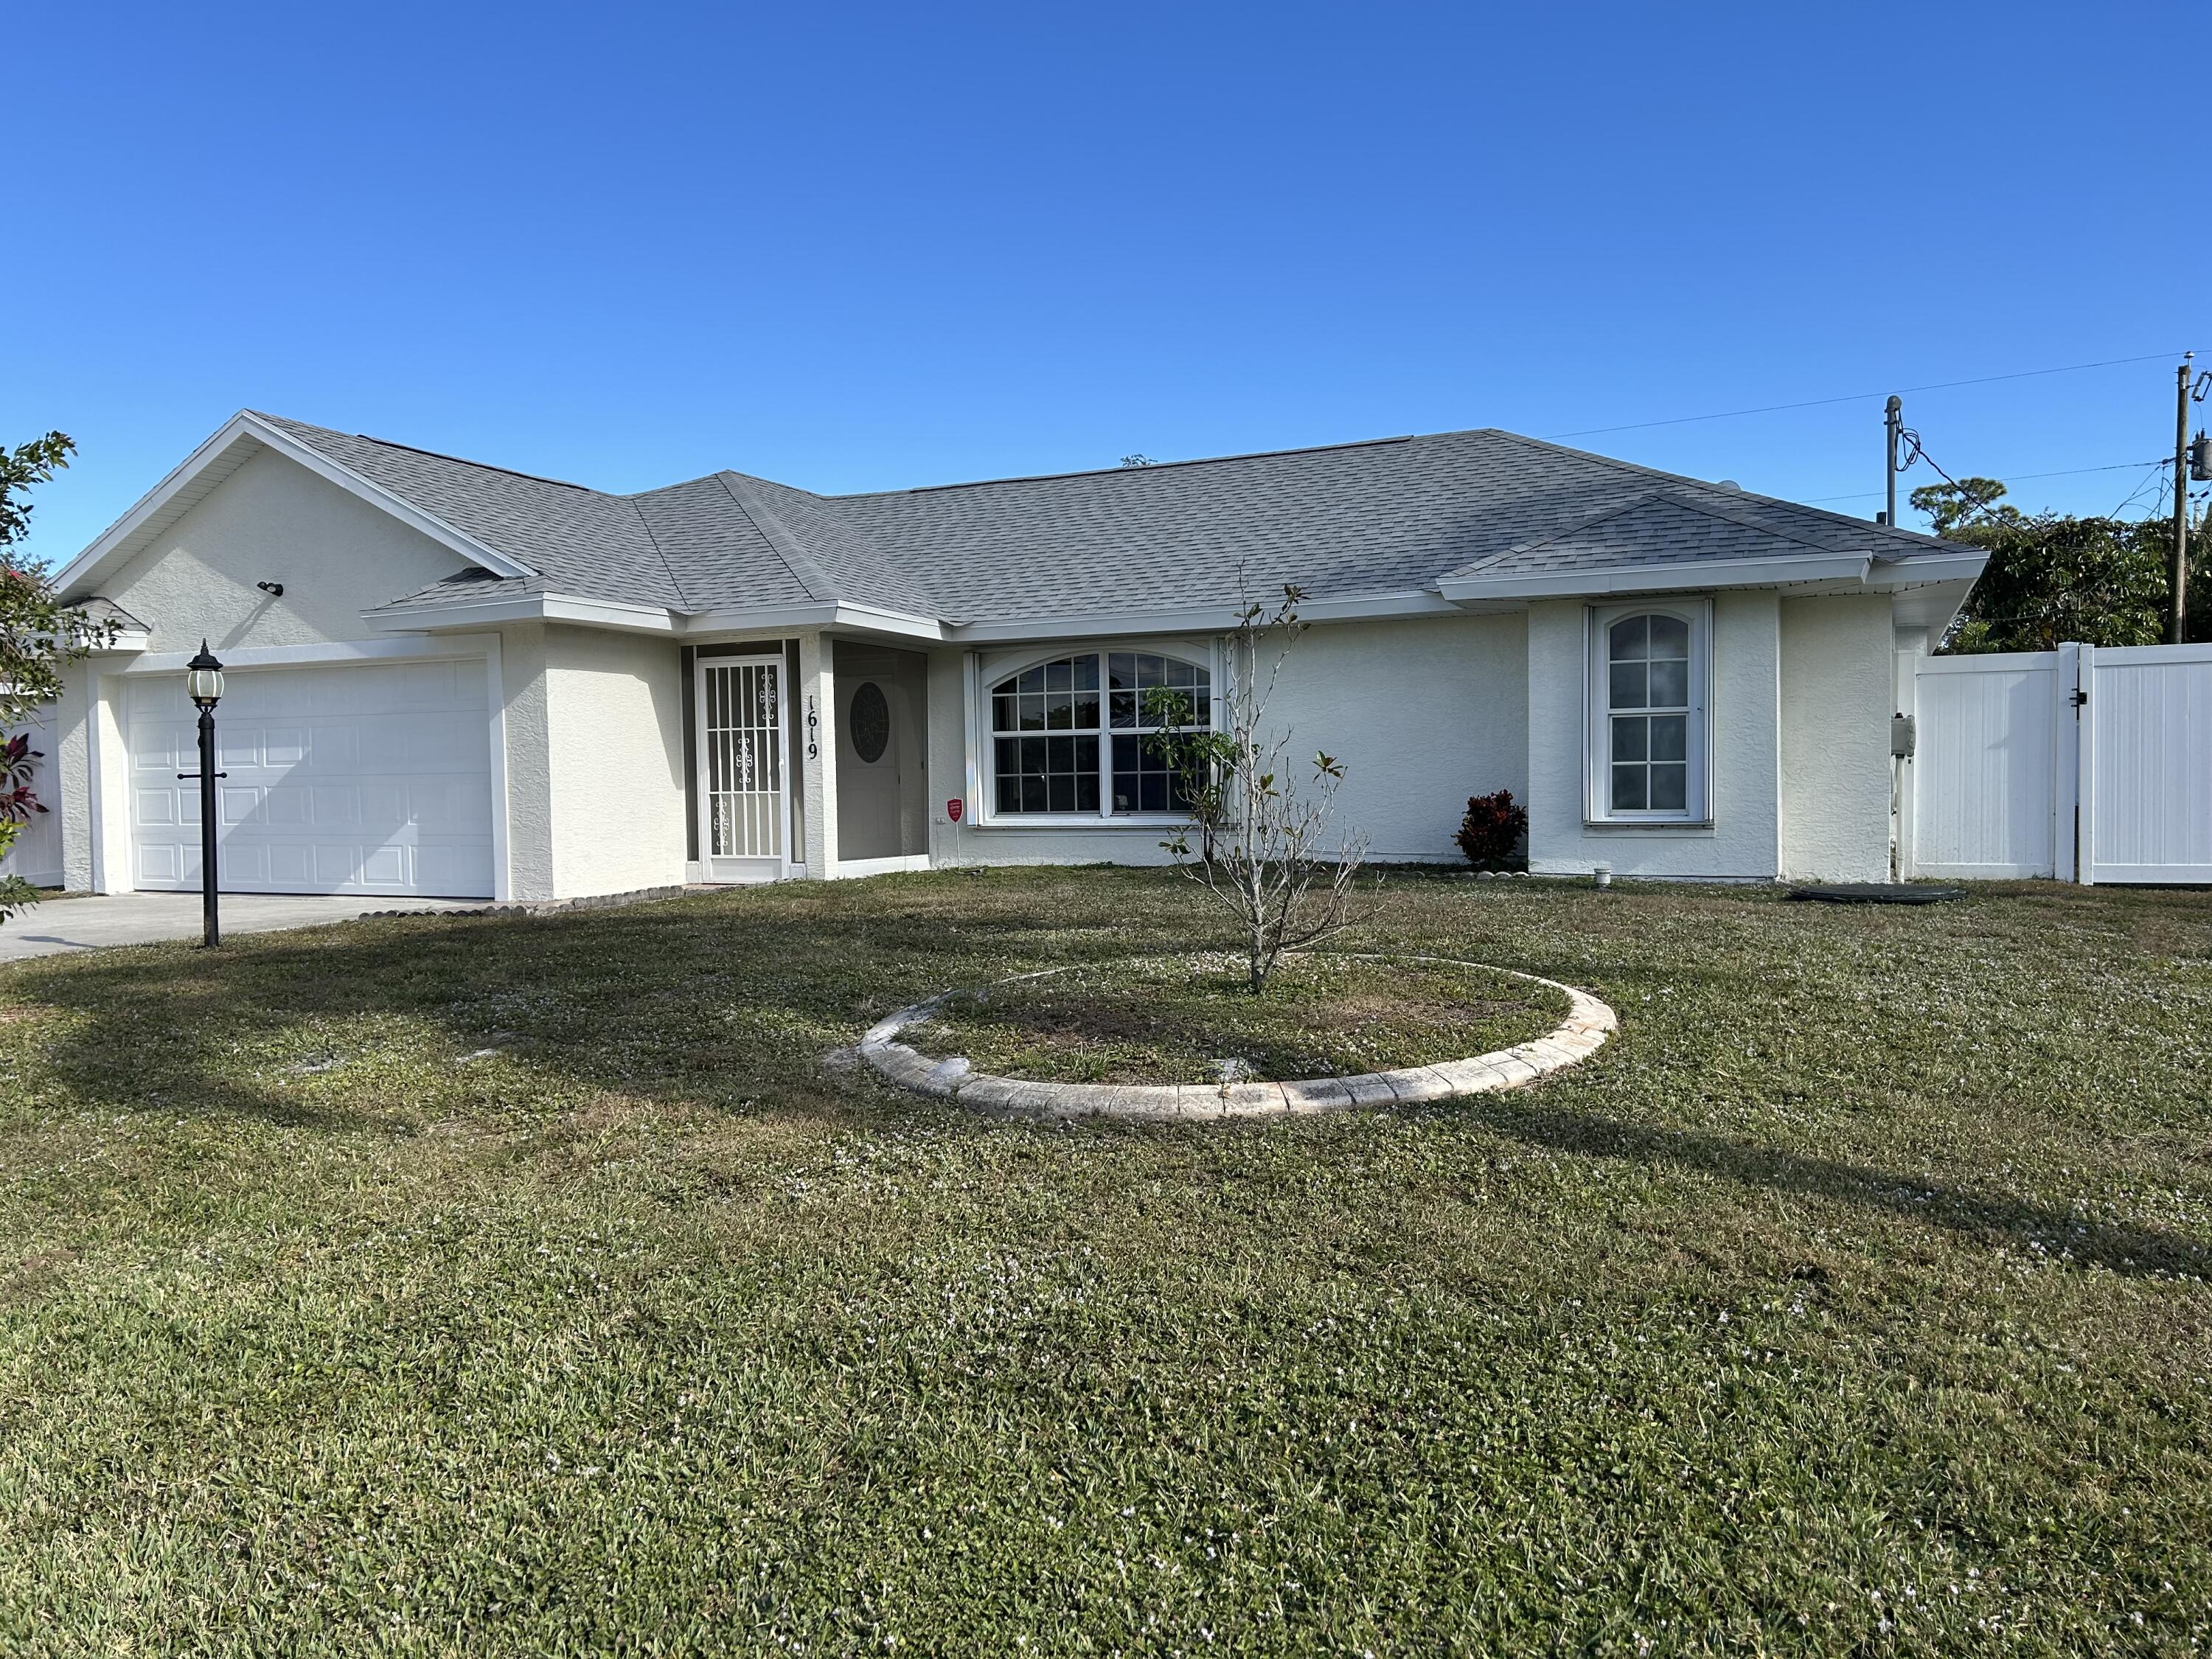
[[[1705,821],[1705,608],[1617,606],[1590,628],[1590,816]]]

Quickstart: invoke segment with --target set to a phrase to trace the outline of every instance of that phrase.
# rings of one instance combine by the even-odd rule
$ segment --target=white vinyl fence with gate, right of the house
[[[1911,664],[1909,876],[2212,883],[2212,646]]]

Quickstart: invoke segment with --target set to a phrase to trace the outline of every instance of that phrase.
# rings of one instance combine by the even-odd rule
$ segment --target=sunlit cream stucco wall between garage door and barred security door
[[[684,701],[677,646],[650,635],[549,626],[544,721],[553,896],[681,885]],[[511,748],[518,748],[513,739]],[[535,810],[533,796],[529,785],[515,790],[511,781],[511,821]]]

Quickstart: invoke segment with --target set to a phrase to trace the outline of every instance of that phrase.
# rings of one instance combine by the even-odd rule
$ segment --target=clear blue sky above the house
[[[602,489],[847,491],[1871,394],[1575,438],[1871,513],[1891,387],[2212,363],[2161,44],[2194,22],[20,11],[0,440],[82,445],[31,544],[62,560],[239,407]],[[2152,500],[2172,363],[1907,416],[1951,473],[2110,511]]]

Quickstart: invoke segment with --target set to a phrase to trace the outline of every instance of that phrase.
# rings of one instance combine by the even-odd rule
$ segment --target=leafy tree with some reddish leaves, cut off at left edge
[[[62,670],[91,650],[97,630],[77,611],[64,611],[46,582],[46,566],[18,555],[31,529],[33,484],[49,482],[75,445],[60,431],[0,449],[0,858],[15,845],[22,825],[44,805],[29,790],[29,743],[9,737],[29,714],[62,695]],[[20,876],[0,876],[0,920],[38,902],[38,889]]]

